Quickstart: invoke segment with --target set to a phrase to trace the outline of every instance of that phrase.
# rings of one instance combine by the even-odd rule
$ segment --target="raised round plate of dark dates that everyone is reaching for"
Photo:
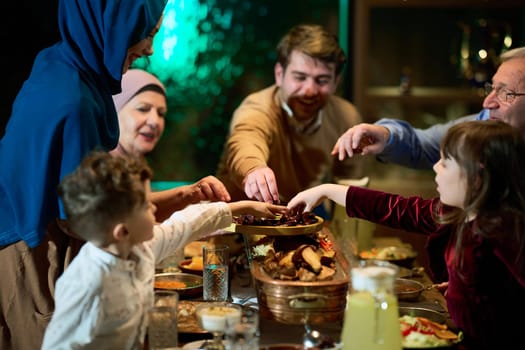
[[[324,220],[310,212],[275,219],[241,215],[233,218],[233,231],[244,234],[292,236],[315,233],[323,228]]]

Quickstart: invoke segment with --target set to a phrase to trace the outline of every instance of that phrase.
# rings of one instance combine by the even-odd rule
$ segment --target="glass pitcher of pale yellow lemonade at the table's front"
[[[399,268],[364,260],[351,269],[341,340],[343,350],[401,350],[401,331],[394,283]]]

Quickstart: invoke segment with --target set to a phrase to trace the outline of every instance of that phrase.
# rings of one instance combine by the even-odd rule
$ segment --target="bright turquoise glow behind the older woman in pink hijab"
[[[215,0],[169,0],[154,54],[135,66],[158,76],[171,103],[209,106],[243,71],[232,59],[241,41],[227,40],[232,21],[233,8]]]

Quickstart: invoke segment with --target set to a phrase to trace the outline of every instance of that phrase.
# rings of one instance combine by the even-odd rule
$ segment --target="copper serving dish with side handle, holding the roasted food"
[[[250,272],[259,301],[261,317],[277,322],[293,325],[303,325],[305,316],[311,325],[321,325],[331,322],[342,322],[346,309],[346,297],[350,285],[350,264],[340,253],[332,233],[328,229],[316,231],[316,234],[296,236],[262,236],[244,235],[249,242],[247,255],[250,258]],[[265,255],[271,250],[283,254],[298,249],[302,244],[313,245],[317,251],[326,251],[328,259],[322,258],[321,273],[311,272],[305,275],[314,277],[315,281],[302,281],[295,277],[279,274],[277,271],[265,271]],[[322,249],[321,249],[322,247]],[[262,254],[256,254],[260,252]],[[254,256],[255,255],[255,256]],[[323,255],[323,254],[321,254]],[[324,262],[335,261],[334,267],[325,266]],[[275,266],[275,262],[272,263]],[[330,264],[331,266],[331,264]],[[321,280],[324,270],[335,271],[332,277]],[[268,267],[266,267],[268,269]],[[305,267],[300,269],[307,270]],[[276,277],[273,277],[272,274]],[[281,279],[284,278],[284,279]],[[296,278],[296,279],[290,279]]]

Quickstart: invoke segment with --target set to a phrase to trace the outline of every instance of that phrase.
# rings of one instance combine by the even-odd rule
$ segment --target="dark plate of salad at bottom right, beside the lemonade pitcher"
[[[451,348],[463,338],[448,327],[445,315],[425,308],[399,307],[399,326],[404,349]]]

